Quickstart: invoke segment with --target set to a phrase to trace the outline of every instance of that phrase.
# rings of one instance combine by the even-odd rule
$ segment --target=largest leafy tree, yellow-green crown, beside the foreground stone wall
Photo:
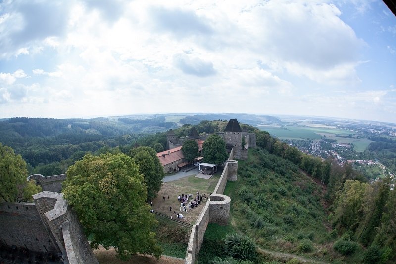
[[[67,171],[64,198],[77,212],[91,247],[114,246],[117,257],[151,254],[159,258],[157,224],[145,203],[146,184],[139,167],[126,154],[87,154]]]

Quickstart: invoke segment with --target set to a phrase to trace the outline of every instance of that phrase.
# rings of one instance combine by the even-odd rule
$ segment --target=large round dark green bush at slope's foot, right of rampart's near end
[[[251,238],[241,234],[228,234],[224,238],[224,251],[233,258],[242,260],[255,257],[256,247]]]

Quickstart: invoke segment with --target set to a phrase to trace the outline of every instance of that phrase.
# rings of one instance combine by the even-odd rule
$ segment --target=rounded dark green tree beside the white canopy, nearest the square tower
[[[223,164],[228,158],[226,142],[219,135],[211,135],[203,143],[203,155],[203,162]]]

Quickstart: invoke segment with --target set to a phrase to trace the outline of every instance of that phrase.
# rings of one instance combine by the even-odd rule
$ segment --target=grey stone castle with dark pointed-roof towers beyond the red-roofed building
[[[246,160],[248,148],[256,147],[256,135],[254,133],[248,133],[247,129],[241,129],[237,119],[230,119],[224,132],[203,133],[198,135],[196,128],[193,127],[189,136],[177,138],[175,132],[170,129],[166,134],[166,149],[171,150],[180,147],[186,140],[197,141],[199,145],[200,142],[203,143],[203,141],[213,134],[219,135],[224,139],[228,152],[231,152],[234,148],[234,158],[237,159]],[[242,139],[244,139],[244,146],[242,146]],[[204,151],[205,150],[203,150],[203,152]]]

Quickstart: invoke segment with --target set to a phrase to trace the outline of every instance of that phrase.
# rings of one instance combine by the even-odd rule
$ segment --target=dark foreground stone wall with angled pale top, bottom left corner
[[[0,204],[0,244],[29,252],[30,256],[56,256],[26,263],[98,264],[78,221],[63,195],[43,191],[34,203]],[[1,260],[1,258],[0,258]],[[25,262],[22,262],[25,263]]]

